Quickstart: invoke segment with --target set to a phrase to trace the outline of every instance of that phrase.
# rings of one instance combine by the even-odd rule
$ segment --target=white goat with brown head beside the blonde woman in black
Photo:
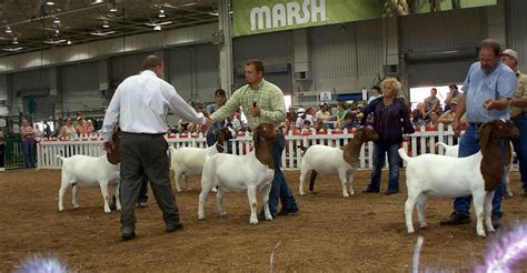
[[[342,196],[349,198],[349,195],[355,195],[351,183],[354,181],[354,173],[357,170],[360,148],[362,146],[362,143],[378,139],[379,134],[377,134],[372,129],[361,128],[355,132],[354,139],[342,148],[327,145],[309,146],[305,151],[300,166],[300,195],[305,195],[304,181],[309,171],[312,171],[309,182],[309,190],[311,192],[314,191],[315,179],[318,173],[338,173],[340,183],[342,184]]]

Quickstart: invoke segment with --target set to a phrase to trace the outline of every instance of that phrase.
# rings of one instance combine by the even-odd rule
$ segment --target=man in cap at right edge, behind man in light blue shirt
[[[501,52],[501,62],[507,64],[516,74],[518,87],[510,100],[510,120],[519,130],[519,138],[513,140],[514,150],[519,162],[519,173],[524,188],[524,198],[527,198],[527,74],[518,71],[518,53],[511,49]]]

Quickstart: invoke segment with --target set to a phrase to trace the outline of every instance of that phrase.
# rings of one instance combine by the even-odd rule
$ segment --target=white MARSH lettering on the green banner
[[[300,12],[300,4],[297,1],[286,4],[277,3],[272,9],[261,6],[250,10],[250,29],[252,31],[327,20],[326,0],[304,0],[302,12]]]

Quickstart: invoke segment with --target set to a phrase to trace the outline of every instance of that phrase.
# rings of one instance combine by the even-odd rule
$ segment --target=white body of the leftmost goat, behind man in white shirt
[[[107,155],[92,158],[88,155],[73,155],[71,158],[62,158],[62,182],[59,190],[59,212],[64,211],[63,198],[66,190],[72,184],[72,203],[73,209],[79,208],[79,186],[97,186],[99,185],[105,200],[105,212],[110,213],[108,185],[113,184],[116,195],[117,210],[121,210],[119,199],[119,166],[120,164],[111,164],[108,162]]]

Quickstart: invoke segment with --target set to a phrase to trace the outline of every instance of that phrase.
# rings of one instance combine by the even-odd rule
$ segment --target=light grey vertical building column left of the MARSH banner
[[[230,97],[235,91],[230,0],[220,0],[218,3],[218,27],[213,43],[219,47],[220,87],[227,92],[227,97]]]

